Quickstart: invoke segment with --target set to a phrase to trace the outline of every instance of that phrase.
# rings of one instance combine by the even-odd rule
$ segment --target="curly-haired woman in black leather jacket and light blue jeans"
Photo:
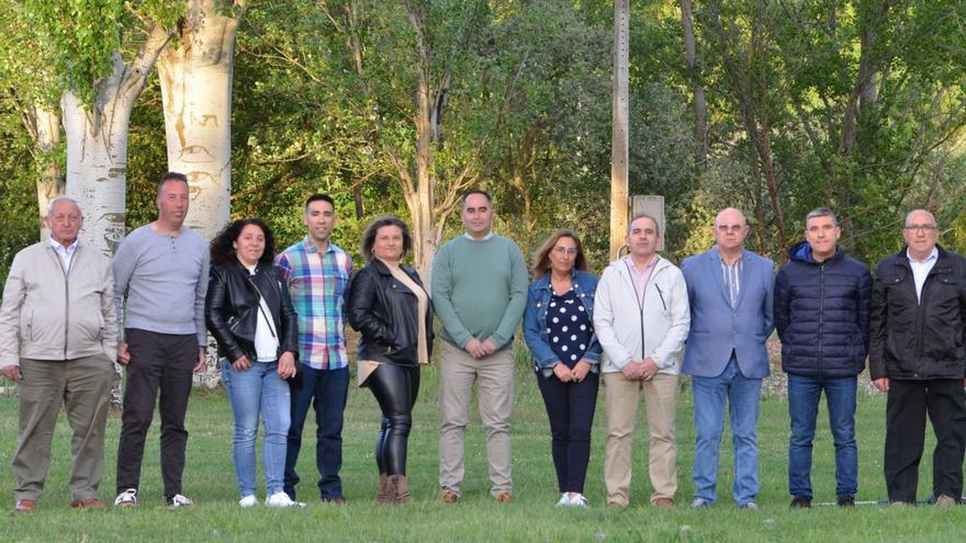
[[[259,416],[265,420],[265,505],[299,505],[282,490],[291,420],[284,380],[295,375],[297,317],[272,257],[274,237],[257,218],[235,220],[211,244],[204,316],[218,342],[222,377],[235,419],[232,456],[243,508],[258,504],[255,439]]]

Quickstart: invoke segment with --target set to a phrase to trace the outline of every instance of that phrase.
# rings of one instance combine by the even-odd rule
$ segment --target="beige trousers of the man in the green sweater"
[[[442,342],[439,369],[439,486],[460,496],[465,465],[463,433],[476,383],[480,419],[486,430],[490,493],[513,493],[510,479],[509,416],[514,401],[513,350],[507,348],[476,360],[467,351]]]

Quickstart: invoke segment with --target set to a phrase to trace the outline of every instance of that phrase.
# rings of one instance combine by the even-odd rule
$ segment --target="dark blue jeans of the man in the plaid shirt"
[[[349,395],[349,369],[315,370],[299,364],[300,378],[292,383],[292,425],[285,451],[285,494],[295,499],[299,474],[299,451],[302,449],[302,427],[308,407],[315,407],[315,465],[318,468],[318,491],[322,499],[341,498],[342,480],[342,411]]]

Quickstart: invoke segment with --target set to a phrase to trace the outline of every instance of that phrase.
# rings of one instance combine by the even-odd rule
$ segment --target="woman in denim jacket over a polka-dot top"
[[[597,404],[600,343],[594,335],[594,292],[580,237],[553,233],[537,250],[524,313],[524,337],[533,354],[553,438],[558,506],[586,506],[584,479]]]

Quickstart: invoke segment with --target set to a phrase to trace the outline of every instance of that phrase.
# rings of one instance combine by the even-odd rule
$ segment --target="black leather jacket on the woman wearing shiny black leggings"
[[[402,264],[402,270],[419,286],[419,274]],[[349,324],[362,332],[359,360],[397,365],[418,364],[419,306],[416,295],[373,259],[352,279],[349,294]],[[427,350],[433,349],[433,306],[426,310]]]

